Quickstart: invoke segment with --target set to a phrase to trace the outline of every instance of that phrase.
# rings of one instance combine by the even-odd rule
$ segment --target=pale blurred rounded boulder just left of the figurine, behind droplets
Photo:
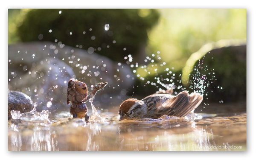
[[[39,64],[38,64],[39,63]],[[59,59],[48,57],[31,68],[27,74],[10,81],[12,90],[30,95],[38,103],[37,111],[67,108],[67,82],[73,70]]]

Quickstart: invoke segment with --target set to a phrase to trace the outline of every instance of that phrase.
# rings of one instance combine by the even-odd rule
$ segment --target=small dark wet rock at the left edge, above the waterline
[[[11,110],[19,110],[20,113],[29,112],[34,108],[31,98],[25,93],[8,90],[8,119],[12,118]]]

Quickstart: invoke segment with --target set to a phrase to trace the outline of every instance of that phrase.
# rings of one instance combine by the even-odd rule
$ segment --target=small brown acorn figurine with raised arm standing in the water
[[[85,121],[88,121],[87,106],[84,103],[90,98],[93,98],[107,84],[108,82],[98,83],[94,86],[90,95],[88,95],[88,89],[85,83],[77,79],[70,79],[67,84],[67,104],[71,103],[70,113],[73,115],[73,118],[84,118]]]

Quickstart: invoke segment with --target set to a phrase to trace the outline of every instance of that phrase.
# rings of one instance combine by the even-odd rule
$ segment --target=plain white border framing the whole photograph
[[[70,4],[69,4],[70,3]],[[252,0],[9,0],[2,1],[1,4],[1,78],[2,90],[2,109],[7,106],[7,61],[8,61],[8,8],[246,8],[247,9],[247,152],[8,152],[7,142],[7,115],[2,112],[1,122],[4,131],[1,133],[1,157],[11,159],[233,159],[241,160],[248,156],[255,156],[255,102],[253,101],[256,91],[255,79],[255,55],[253,45],[255,45],[255,20],[256,10],[253,8],[255,3]],[[245,86],[244,86],[245,87]],[[3,111],[6,111],[3,109]]]

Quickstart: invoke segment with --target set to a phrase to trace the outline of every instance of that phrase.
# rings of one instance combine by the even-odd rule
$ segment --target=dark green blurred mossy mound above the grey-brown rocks
[[[59,14],[61,11],[61,14]],[[147,32],[157,23],[159,13],[149,9],[144,17],[140,9],[32,9],[17,28],[23,42],[62,42],[94,51],[118,62],[124,56],[144,53]],[[105,24],[110,29],[105,31]],[[49,33],[51,30],[51,33]],[[84,32],[85,31],[85,32]],[[70,34],[72,32],[72,34]],[[124,51],[124,48],[126,50]]]

